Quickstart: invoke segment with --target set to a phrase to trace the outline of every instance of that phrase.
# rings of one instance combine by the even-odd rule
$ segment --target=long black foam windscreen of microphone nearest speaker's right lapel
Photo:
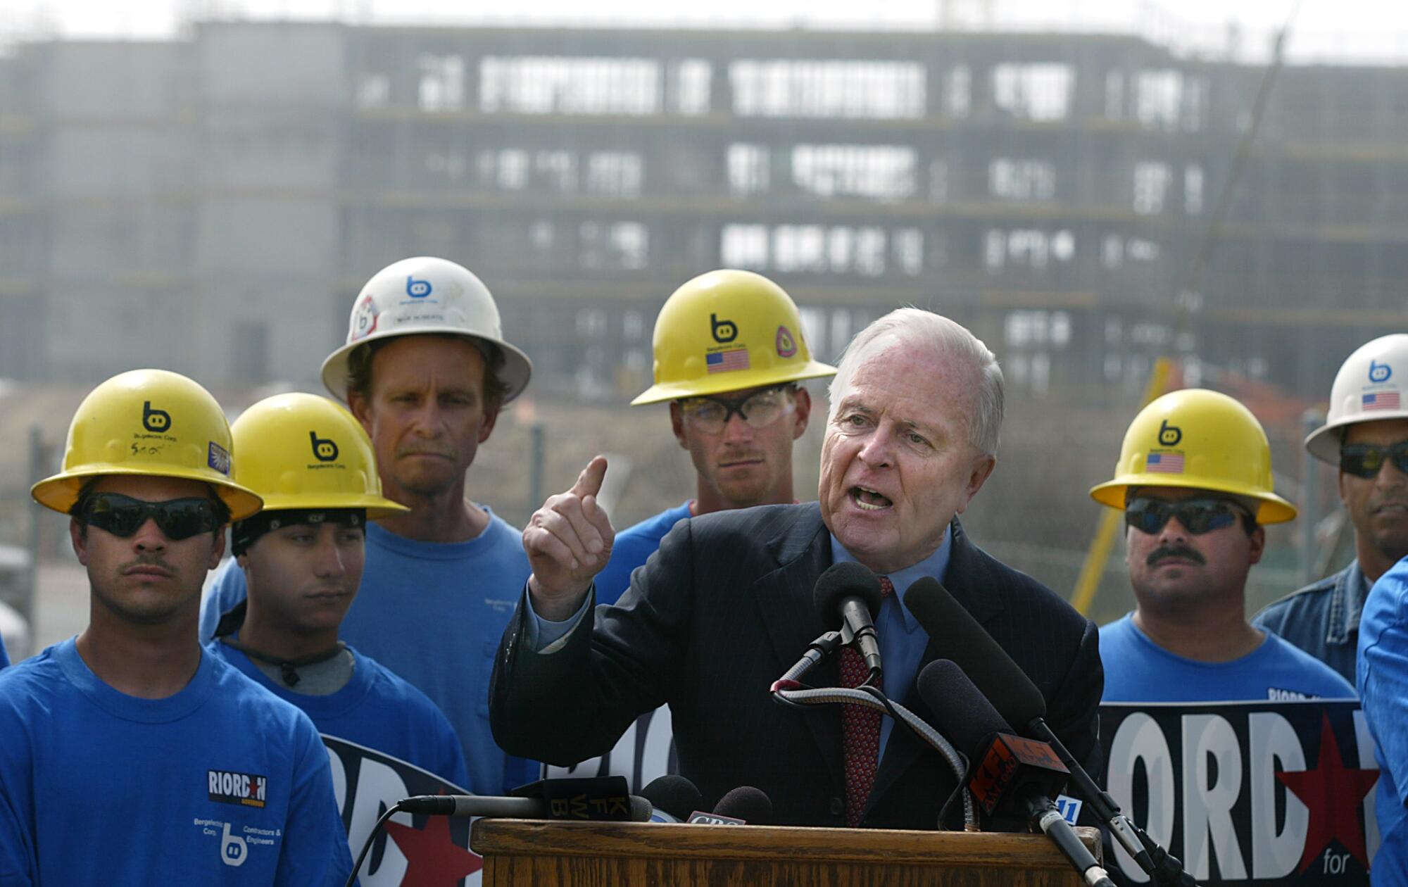
[[[936,579],[925,576],[910,586],[904,605],[1008,724],[1021,729],[1046,715],[1046,700],[1032,679]]]

